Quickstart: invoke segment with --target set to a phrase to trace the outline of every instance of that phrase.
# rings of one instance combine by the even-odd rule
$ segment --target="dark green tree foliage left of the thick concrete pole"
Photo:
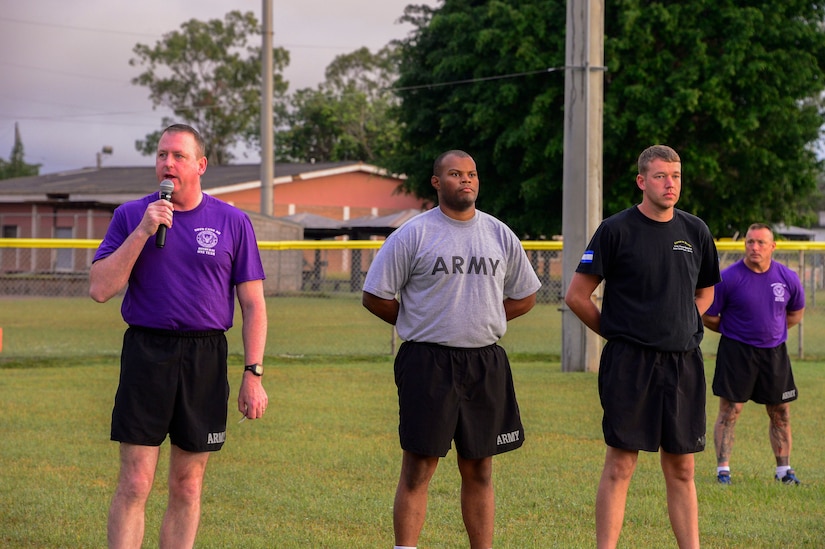
[[[435,200],[432,162],[448,149],[473,155],[479,208],[518,234],[558,232],[561,220],[563,1],[445,2],[408,6],[416,27],[401,42],[401,146],[389,162],[407,188]]]

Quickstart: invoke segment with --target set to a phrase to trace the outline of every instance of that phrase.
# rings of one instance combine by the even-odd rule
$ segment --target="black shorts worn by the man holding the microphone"
[[[187,452],[214,452],[226,440],[229,381],[221,331],[129,327],[112,410],[114,441],[160,446],[169,435]]]

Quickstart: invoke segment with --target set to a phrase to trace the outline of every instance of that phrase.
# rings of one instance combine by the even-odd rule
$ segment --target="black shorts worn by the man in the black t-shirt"
[[[705,449],[702,351],[657,351],[608,341],[599,366],[602,429],[622,450],[692,454]]]

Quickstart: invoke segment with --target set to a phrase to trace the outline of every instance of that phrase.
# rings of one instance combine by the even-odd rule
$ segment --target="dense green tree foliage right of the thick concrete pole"
[[[755,221],[810,225],[822,171],[825,11],[789,0],[618,0],[608,17],[605,208],[632,203],[629,145],[682,156],[681,207],[717,236]],[[618,184],[617,184],[618,183]]]

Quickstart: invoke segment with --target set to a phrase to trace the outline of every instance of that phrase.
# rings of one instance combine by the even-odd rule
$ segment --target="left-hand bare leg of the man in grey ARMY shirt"
[[[427,516],[427,490],[438,467],[438,458],[404,450],[401,476],[395,491],[393,528],[395,544],[415,547]]]

